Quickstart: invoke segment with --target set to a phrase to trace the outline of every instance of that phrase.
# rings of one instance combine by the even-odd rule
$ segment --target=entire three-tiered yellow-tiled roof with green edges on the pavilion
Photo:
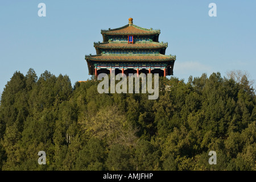
[[[172,67],[169,67],[171,71],[168,71],[167,73],[172,75],[172,69],[174,65],[174,61],[176,60],[176,56],[167,56],[165,54],[165,50],[168,46],[167,43],[159,43],[158,37],[160,34],[160,30],[153,30],[152,28],[142,28],[139,26],[136,26],[133,24],[133,19],[129,18],[129,24],[126,24],[123,27],[120,28],[114,28],[109,30],[101,30],[101,34],[103,37],[102,43],[94,43],[94,47],[96,48],[97,55],[86,55],[85,60],[88,63],[88,69],[89,74],[93,74],[94,64],[101,63],[101,62],[109,62],[109,63],[165,63],[168,65],[172,65]],[[128,43],[127,41],[118,41],[120,36],[122,36],[122,39],[127,36],[136,36],[135,41],[133,43]],[[146,40],[148,41],[139,41],[144,39],[144,36],[148,36]],[[114,41],[112,41],[114,39]],[[154,53],[155,51],[151,53],[105,53],[105,50],[139,50],[143,52],[144,50],[148,49],[160,49],[160,51],[156,51],[157,53]]]

